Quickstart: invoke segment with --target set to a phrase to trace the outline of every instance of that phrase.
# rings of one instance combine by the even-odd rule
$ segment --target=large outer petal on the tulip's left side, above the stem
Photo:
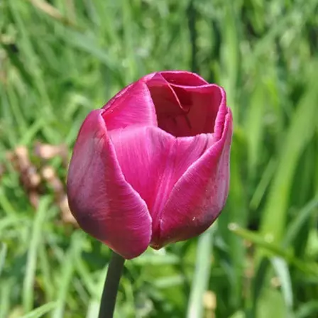
[[[79,131],[67,197],[84,231],[124,258],[134,258],[150,242],[151,219],[146,203],[121,172],[102,112],[92,111]]]

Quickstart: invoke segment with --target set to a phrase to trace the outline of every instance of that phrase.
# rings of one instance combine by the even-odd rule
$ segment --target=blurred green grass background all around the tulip
[[[0,317],[97,317],[110,251],[61,203],[65,152],[170,69],[226,89],[231,190],[203,236],[126,262],[116,317],[318,317],[317,52],[317,0],[0,1]]]

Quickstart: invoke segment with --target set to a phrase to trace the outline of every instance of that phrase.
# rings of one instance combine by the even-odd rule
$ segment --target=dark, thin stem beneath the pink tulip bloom
[[[124,268],[125,258],[117,253],[111,254],[111,261],[107,270],[101,305],[99,307],[99,318],[112,318],[114,314],[117,290],[121,272]]]

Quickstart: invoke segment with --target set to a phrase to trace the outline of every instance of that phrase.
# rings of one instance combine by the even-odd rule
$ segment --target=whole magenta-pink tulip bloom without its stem
[[[146,75],[82,124],[72,214],[126,259],[197,236],[226,202],[231,136],[224,89],[185,71]]]

